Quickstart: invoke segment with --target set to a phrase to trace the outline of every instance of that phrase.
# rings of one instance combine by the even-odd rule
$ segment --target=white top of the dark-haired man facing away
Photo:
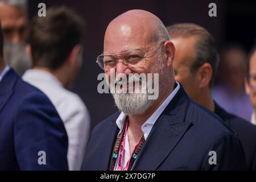
[[[55,106],[68,134],[69,170],[80,170],[90,127],[90,117],[84,102],[77,94],[65,89],[49,72],[28,69],[22,78],[42,90]]]

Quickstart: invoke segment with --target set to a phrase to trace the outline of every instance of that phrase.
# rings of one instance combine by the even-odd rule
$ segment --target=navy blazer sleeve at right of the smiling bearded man
[[[216,164],[214,164],[214,155]],[[202,170],[245,170],[245,153],[240,139],[230,133],[216,137],[204,159]]]

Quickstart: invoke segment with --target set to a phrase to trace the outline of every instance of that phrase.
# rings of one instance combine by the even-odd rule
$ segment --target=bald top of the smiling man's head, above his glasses
[[[118,52],[129,51],[134,44],[157,43],[169,40],[162,21],[154,14],[144,10],[130,10],[117,16],[109,23],[105,32],[104,53],[115,53],[108,49],[109,44],[116,45]],[[136,42],[136,43],[135,43]]]

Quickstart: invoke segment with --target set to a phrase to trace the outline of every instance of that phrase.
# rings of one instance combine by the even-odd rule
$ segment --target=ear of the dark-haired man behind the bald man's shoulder
[[[204,63],[197,71],[200,77],[200,84],[201,88],[205,88],[209,86],[210,80],[212,79],[212,66],[209,63]]]

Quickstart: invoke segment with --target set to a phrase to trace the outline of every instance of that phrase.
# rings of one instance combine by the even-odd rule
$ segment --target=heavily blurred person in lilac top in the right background
[[[246,51],[230,44],[220,57],[220,75],[213,87],[213,98],[226,111],[250,121],[253,108],[245,93]]]

